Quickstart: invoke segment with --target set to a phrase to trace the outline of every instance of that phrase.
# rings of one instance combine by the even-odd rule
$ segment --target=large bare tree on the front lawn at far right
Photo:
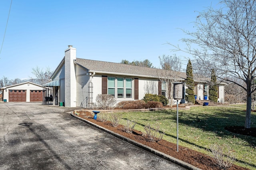
[[[195,32],[185,31],[191,38],[182,39],[186,49],[175,47],[174,51],[186,51],[194,56],[194,70],[216,76],[228,83],[234,83],[246,91],[247,107],[245,128],[251,125],[252,93],[256,90],[256,1],[222,0],[221,8],[212,7],[199,12]],[[230,77],[242,80],[234,82]]]

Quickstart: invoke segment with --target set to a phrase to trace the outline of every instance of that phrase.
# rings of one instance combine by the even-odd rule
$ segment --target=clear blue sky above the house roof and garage
[[[0,5],[2,45],[11,0]],[[166,43],[180,45],[193,30],[198,12],[211,0],[13,0],[0,53],[0,79],[34,77],[32,68],[55,70],[68,45],[76,57],[119,63],[174,55]],[[176,53],[184,59],[187,54]]]

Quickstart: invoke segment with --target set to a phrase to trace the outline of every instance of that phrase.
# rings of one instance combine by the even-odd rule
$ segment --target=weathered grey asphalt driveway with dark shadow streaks
[[[74,109],[1,102],[1,170],[183,169],[75,119],[68,113]]]

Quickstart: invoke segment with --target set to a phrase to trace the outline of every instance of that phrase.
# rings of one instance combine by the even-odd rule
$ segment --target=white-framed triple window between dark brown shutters
[[[132,98],[132,78],[108,77],[108,94],[115,98]]]

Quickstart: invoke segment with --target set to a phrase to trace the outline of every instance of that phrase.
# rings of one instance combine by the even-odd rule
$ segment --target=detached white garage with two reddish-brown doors
[[[6,102],[42,102],[43,87],[32,82],[24,82],[2,87],[3,101]]]

